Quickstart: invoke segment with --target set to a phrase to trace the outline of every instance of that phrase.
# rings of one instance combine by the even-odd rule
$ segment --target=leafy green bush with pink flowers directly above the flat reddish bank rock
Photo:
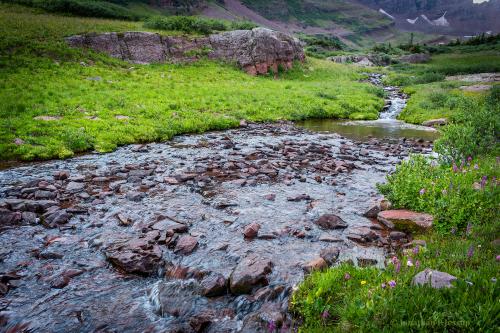
[[[448,167],[416,155],[387,177],[379,190],[395,208],[434,216],[438,230],[464,228],[497,218],[499,165],[494,158],[464,161]]]

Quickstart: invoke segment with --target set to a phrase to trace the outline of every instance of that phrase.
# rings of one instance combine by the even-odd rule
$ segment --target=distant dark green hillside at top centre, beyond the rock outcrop
[[[363,33],[385,28],[391,21],[377,11],[344,0],[244,0],[249,8],[271,20],[313,27],[341,26]]]

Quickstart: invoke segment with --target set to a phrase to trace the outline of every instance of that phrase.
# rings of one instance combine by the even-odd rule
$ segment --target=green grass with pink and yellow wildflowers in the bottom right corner
[[[392,263],[384,270],[343,264],[316,272],[300,285],[291,302],[304,320],[300,331],[497,332],[500,247],[492,241],[499,237],[498,221],[491,221],[473,225],[469,234],[418,237],[427,247],[419,247],[417,254],[399,252],[399,273]],[[408,259],[414,266],[407,266]],[[447,272],[458,281],[450,289],[413,286],[411,280],[425,268]],[[391,280],[396,282],[394,288],[388,286]]]

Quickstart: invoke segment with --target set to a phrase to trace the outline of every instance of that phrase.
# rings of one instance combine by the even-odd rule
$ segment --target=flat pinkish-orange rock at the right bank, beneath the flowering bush
[[[432,215],[404,209],[382,211],[377,218],[388,228],[401,231],[428,230],[433,223]]]

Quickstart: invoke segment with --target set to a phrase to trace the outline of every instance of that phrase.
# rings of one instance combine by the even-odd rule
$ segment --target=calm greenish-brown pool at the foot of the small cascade
[[[367,141],[372,137],[434,141],[439,137],[439,132],[433,128],[406,124],[395,119],[373,121],[312,119],[298,122],[297,125],[315,132],[337,133],[348,139],[359,141]]]

